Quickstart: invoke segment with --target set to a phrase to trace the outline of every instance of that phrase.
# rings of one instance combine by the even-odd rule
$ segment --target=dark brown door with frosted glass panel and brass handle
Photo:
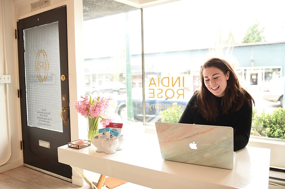
[[[70,142],[66,7],[19,20],[24,165],[71,179],[57,148]]]

